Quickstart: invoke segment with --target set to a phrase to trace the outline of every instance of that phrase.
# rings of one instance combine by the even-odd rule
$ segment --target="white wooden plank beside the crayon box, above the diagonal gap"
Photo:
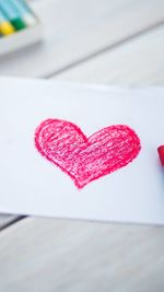
[[[32,3],[44,42],[0,59],[0,74],[44,77],[164,20],[163,0],[46,0]]]

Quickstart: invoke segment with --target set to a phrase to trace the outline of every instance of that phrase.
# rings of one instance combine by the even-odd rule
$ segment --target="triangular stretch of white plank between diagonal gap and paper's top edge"
[[[164,25],[56,77],[114,85],[164,84]]]

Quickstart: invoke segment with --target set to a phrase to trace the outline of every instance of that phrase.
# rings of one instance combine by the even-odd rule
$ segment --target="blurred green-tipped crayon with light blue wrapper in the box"
[[[23,21],[22,15],[13,5],[12,0],[0,0],[0,9],[8,17],[10,23],[14,26],[15,31],[20,31],[26,27],[26,24]]]

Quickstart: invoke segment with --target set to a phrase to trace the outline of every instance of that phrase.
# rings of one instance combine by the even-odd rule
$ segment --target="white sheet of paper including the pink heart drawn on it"
[[[163,89],[9,78],[0,89],[0,212],[164,224]]]

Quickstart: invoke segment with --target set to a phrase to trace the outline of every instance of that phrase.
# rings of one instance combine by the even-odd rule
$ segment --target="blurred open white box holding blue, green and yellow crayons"
[[[42,39],[42,23],[25,0],[0,0],[0,56]]]

